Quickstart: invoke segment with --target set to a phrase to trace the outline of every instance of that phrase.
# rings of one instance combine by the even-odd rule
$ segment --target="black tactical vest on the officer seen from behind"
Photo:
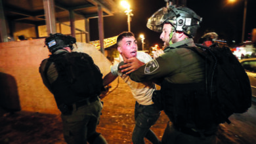
[[[49,62],[54,63],[58,72],[56,81],[51,84],[57,105],[98,96],[102,91],[102,73],[88,54],[53,54]]]

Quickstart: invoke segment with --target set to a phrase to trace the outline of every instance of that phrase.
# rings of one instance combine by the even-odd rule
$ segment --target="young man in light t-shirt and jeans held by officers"
[[[131,32],[120,33],[117,37],[117,46],[117,50],[121,54],[121,62],[125,62],[125,60],[133,57],[136,57],[141,63],[147,63],[152,60],[149,54],[137,52],[137,40]],[[161,143],[160,139],[150,130],[150,127],[156,123],[161,113],[152,102],[152,94],[156,90],[155,84],[152,82],[132,81],[129,75],[119,71],[118,65],[119,63],[112,66],[111,72],[104,77],[103,82],[104,86],[106,86],[119,76],[131,88],[131,93],[136,99],[135,128],[132,136],[133,144],[145,143],[144,137],[153,144]]]

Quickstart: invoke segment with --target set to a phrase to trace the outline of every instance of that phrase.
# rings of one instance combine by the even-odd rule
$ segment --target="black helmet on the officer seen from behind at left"
[[[76,43],[75,37],[63,35],[62,33],[50,34],[50,37],[45,38],[45,45],[47,45],[51,53],[65,47],[70,47],[73,50],[74,43]]]

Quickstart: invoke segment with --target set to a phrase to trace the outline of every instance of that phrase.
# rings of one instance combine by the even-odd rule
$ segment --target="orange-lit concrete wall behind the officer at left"
[[[109,60],[95,46],[77,43],[75,51],[92,56],[103,75],[110,71]],[[38,67],[49,56],[44,39],[0,43],[0,106],[39,113],[60,113],[53,94],[44,86]]]

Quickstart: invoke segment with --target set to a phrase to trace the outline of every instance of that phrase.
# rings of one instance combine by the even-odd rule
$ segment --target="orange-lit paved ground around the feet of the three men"
[[[134,104],[131,92],[120,79],[112,84],[110,94],[104,99],[102,117],[98,126],[110,144],[131,143],[134,124]],[[237,116],[238,117],[238,116]],[[234,118],[232,118],[234,119]],[[161,139],[168,118],[164,113],[152,130]],[[252,120],[255,121],[255,120]],[[218,132],[220,143],[256,143],[255,126],[250,124],[221,124]],[[240,127],[236,127],[236,126]],[[242,129],[253,131],[243,132]],[[250,133],[251,132],[251,133]],[[243,134],[245,133],[245,134]],[[7,113],[0,109],[0,144],[64,144],[60,115],[42,113]],[[146,141],[146,143],[150,143]]]

